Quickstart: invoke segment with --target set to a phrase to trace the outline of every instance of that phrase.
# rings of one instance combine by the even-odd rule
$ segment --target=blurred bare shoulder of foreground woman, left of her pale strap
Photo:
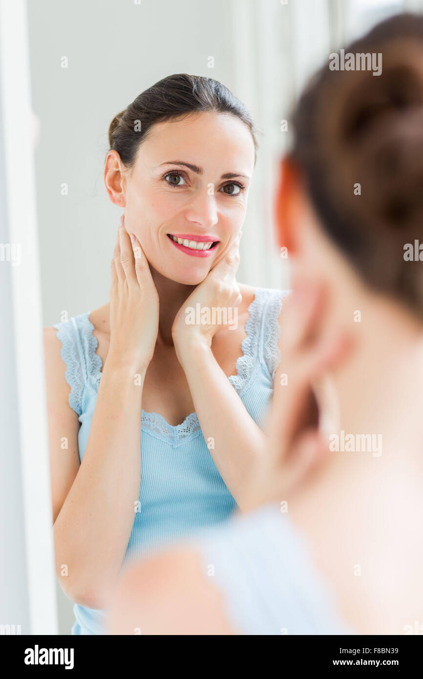
[[[195,549],[145,559],[124,572],[110,609],[111,634],[234,635],[223,595]],[[139,632],[138,632],[139,633]]]

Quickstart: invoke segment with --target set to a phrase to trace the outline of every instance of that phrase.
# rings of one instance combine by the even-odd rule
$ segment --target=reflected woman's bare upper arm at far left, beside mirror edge
[[[54,327],[44,329],[45,386],[47,393],[50,477],[53,523],[79,469],[79,420],[69,405],[70,387],[65,379],[62,343]]]

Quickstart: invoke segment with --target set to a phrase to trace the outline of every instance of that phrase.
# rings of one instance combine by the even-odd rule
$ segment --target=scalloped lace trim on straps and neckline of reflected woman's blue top
[[[263,310],[272,292],[275,294],[272,295],[270,304],[268,304],[269,309],[266,308],[266,331],[263,339],[263,357],[272,378],[280,362],[278,317],[282,308],[282,297],[287,292],[256,288],[254,299],[249,306],[249,318],[245,324],[246,337],[241,344],[242,356],[238,356],[236,360],[236,374],[230,375],[228,378],[238,394],[249,384],[253,368],[259,360],[259,340],[264,321]],[[71,387],[69,405],[77,412],[78,416],[82,412],[81,403],[87,381],[95,390],[98,390],[103,367],[103,361],[96,353],[98,339],[93,334],[94,325],[89,319],[90,313],[88,311],[71,318],[67,323],[54,325],[58,330],[57,336],[62,342],[60,354],[67,365],[65,378]],[[76,336],[72,337],[72,333],[75,333]],[[83,352],[83,355],[81,355],[81,352]],[[85,369],[86,375],[84,375]],[[187,439],[201,429],[196,413],[190,413],[181,424],[172,426],[166,422],[162,415],[143,409],[141,422],[144,428],[155,431],[160,437],[170,438],[174,442]]]

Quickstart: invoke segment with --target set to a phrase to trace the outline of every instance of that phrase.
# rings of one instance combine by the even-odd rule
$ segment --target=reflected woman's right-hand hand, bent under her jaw
[[[229,308],[236,309],[242,301],[240,289],[235,280],[236,270],[240,263],[240,240],[241,234],[238,234],[225,257],[208,272],[206,278],[189,295],[174,318],[172,338],[180,361],[182,353],[189,353],[193,344],[202,343],[210,348],[214,335],[225,325],[224,312],[218,312],[218,308],[227,310],[226,320],[230,320],[233,314],[231,316]],[[197,309],[200,310],[199,313]],[[188,310],[192,312],[187,314]],[[214,313],[213,310],[215,310]],[[208,317],[206,317],[207,311]],[[191,323],[192,320],[194,323]],[[200,320],[200,323],[197,323],[197,320]]]

